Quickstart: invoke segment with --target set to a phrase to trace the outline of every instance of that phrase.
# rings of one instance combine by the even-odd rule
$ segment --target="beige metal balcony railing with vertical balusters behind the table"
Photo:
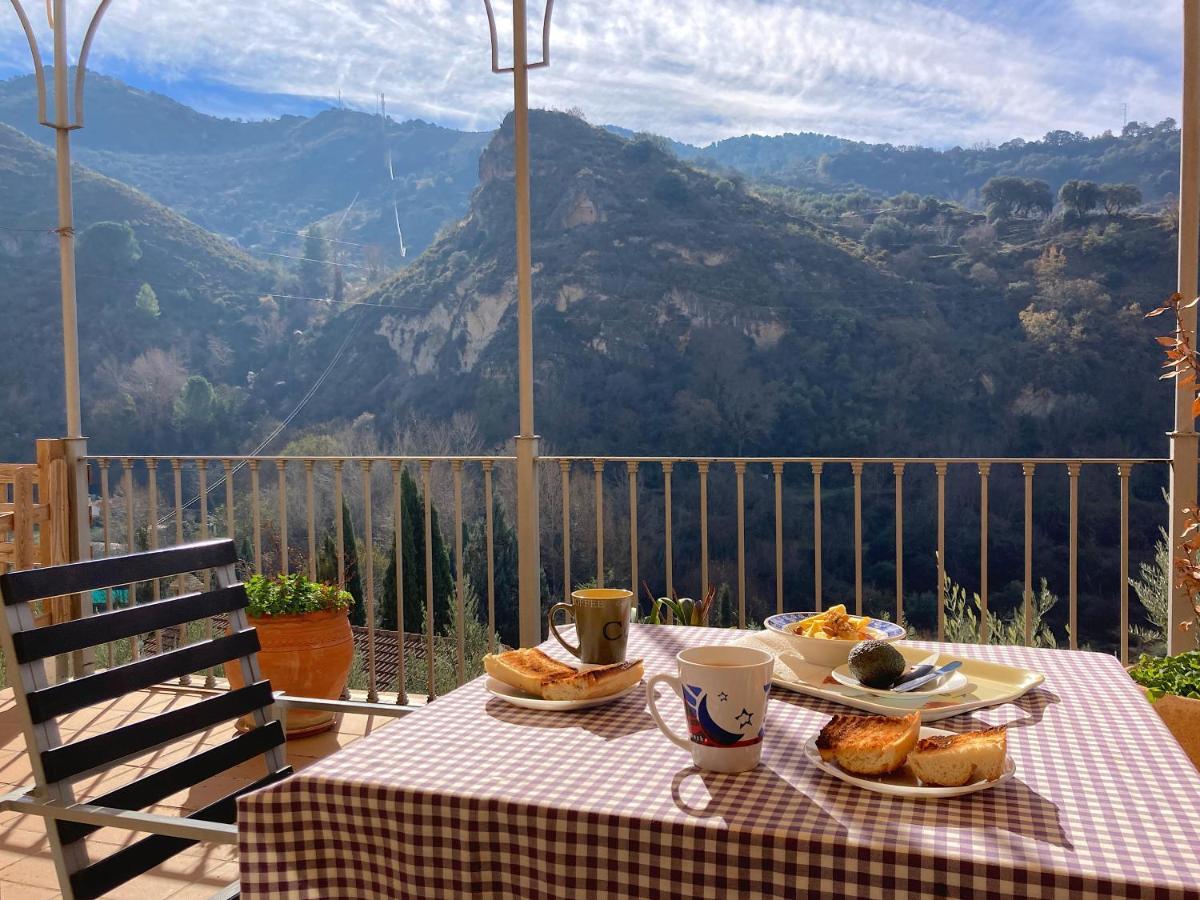
[[[1020,518],[1024,640],[1028,643],[1034,637],[1030,614],[1034,576],[1049,568],[1060,590],[1066,582],[1067,643],[1075,648],[1081,646],[1080,481],[1092,484],[1097,479],[1108,487],[1100,491],[1103,497],[1093,500],[1097,509],[1088,510],[1093,526],[1088,533],[1115,535],[1110,542],[1118,560],[1111,566],[1108,590],[1117,598],[1116,650],[1128,660],[1130,482],[1144,482],[1140,496],[1153,493],[1154,486],[1165,481],[1165,462],[544,456],[542,568],[551,595],[569,594],[572,587],[588,581],[630,586],[637,592],[646,580],[661,588],[656,593],[679,589],[701,594],[710,584],[726,583],[736,602],[736,623],[742,626],[785,606],[821,607],[845,601],[863,612],[872,601],[878,611],[884,594],[889,598],[888,614],[899,619],[907,616],[906,599],[913,599],[912,589],[906,587],[906,556],[911,560],[914,546],[928,545],[930,556],[936,553],[936,564],[920,576],[925,582],[934,576],[936,636],[944,636],[944,586],[948,560],[953,560],[955,571],[972,569],[978,575],[979,640],[986,642],[992,620],[992,527],[1003,520],[1012,530]],[[356,629],[356,684],[368,702],[403,704],[414,692],[432,698],[476,671],[478,660],[470,658],[474,654],[468,654],[466,644],[468,586],[463,554],[468,524],[482,527],[486,577],[480,581],[486,584],[473,587],[486,612],[488,650],[496,646],[498,604],[508,614],[515,614],[516,596],[497,596],[498,576],[512,584],[515,572],[497,572],[494,546],[494,511],[510,504],[515,491],[514,457],[96,456],[89,463],[92,491],[98,496],[95,521],[102,540],[97,554],[224,535],[239,541],[247,566],[256,572],[288,569],[316,578],[319,547],[331,538],[336,580],[346,583],[355,569],[361,578],[365,624]],[[413,623],[406,629],[403,551],[396,554],[395,596],[383,598],[380,583],[392,542],[403,528],[406,472],[424,512],[424,521],[412,526],[419,529],[425,548],[421,634],[410,630]],[[798,503],[785,503],[796,494],[802,494]],[[1061,522],[1063,506],[1066,523]],[[1148,509],[1145,503],[1142,506]],[[343,509],[348,516],[340,514]],[[451,510],[452,528],[445,515]],[[1140,559],[1150,557],[1157,536],[1153,528],[1145,527],[1145,520],[1148,516],[1159,523],[1165,521],[1165,504],[1153,514],[1142,510],[1136,529]],[[434,521],[438,515],[443,516],[440,522]],[[965,553],[961,539],[948,546],[948,522],[962,533],[967,518],[977,521],[977,554],[973,548]],[[1104,528],[1096,527],[1099,520],[1105,520]],[[353,546],[348,545],[347,523],[358,533]],[[870,523],[870,540],[864,538],[864,523]],[[438,528],[452,560],[454,578],[452,628],[443,634],[436,626],[439,616],[433,583],[433,532]],[[1039,540],[1056,528],[1066,532],[1066,540],[1060,541],[1067,550],[1066,564],[1039,559],[1036,569]],[[886,553],[880,552],[878,535],[883,532],[890,532]],[[773,553],[767,553],[768,545]],[[972,557],[971,565],[962,562],[965,556]],[[686,563],[686,571],[677,571],[680,560]],[[515,560],[502,563],[506,564],[515,566]],[[1060,569],[1064,569],[1061,577]],[[886,586],[880,583],[881,570],[889,576]],[[113,602],[136,602],[139,589],[157,596],[160,586],[131,586],[127,598],[109,592],[104,604],[110,607]],[[384,601],[396,604],[396,629],[386,634],[377,624]],[[161,646],[162,636],[148,636],[143,644],[124,652],[137,655]],[[208,673],[206,683],[217,683],[215,673]]]

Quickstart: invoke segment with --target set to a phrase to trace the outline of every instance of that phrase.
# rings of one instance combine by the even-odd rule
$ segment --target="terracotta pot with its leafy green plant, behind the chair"
[[[250,624],[258,630],[263,676],[275,690],[292,696],[337,700],[346,688],[354,659],[349,592],[304,575],[254,575],[246,580]],[[229,684],[242,685],[238,666],[227,666]],[[289,738],[328,731],[334,713],[288,709]],[[247,724],[248,725],[248,724]],[[242,727],[242,724],[239,724]]]

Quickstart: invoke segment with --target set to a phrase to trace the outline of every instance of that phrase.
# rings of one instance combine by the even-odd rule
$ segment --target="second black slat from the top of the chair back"
[[[60,653],[82,650],[85,647],[96,647],[158,629],[174,628],[185,622],[233,612],[245,607],[246,602],[246,589],[241,584],[230,584],[216,590],[181,594],[31,631],[18,631],[12,636],[12,642],[17,648],[17,661],[32,662]]]

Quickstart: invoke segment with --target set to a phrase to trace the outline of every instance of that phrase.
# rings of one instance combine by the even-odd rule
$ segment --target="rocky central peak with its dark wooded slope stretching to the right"
[[[509,128],[480,160],[467,217],[362,298],[384,308],[353,310],[313,337],[360,329],[312,419],[466,409],[490,439],[511,434]],[[1165,424],[1145,385],[1116,376],[1134,359],[1153,371],[1152,343],[1122,311],[1168,293],[1171,234],[1158,220],[1097,220],[1111,226],[1099,236],[1060,226],[1014,244],[961,208],[900,198],[822,224],[655,140],[544,112],[532,128],[538,407],[563,446],[1082,452],[1080,442],[1099,450],[1114,437],[1073,406],[1147,424],[1127,436]],[[1127,262],[1112,266],[1105,253],[1118,245]],[[1069,269],[1040,277],[1051,246]],[[1073,322],[1102,354],[1092,374],[1116,366],[1112,386],[1094,386],[1091,355],[1048,359],[1046,342],[1066,341],[1055,329]],[[1106,340],[1120,352],[1104,356]]]

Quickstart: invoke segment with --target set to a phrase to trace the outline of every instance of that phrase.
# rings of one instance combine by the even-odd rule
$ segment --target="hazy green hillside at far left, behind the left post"
[[[60,434],[62,335],[53,155],[0,125],[0,454],[24,458]],[[260,295],[271,268],[138,191],[77,166],[79,354],[85,421],[101,444],[172,445],[175,402],[190,374],[245,384],[254,365]],[[277,329],[281,330],[281,329]],[[194,390],[194,389],[193,389]],[[236,389],[200,396],[236,426]],[[185,410],[186,412],[186,410]],[[247,410],[248,412],[248,410]],[[209,416],[208,424],[214,421]],[[203,422],[200,422],[203,424]],[[199,437],[199,432],[187,434]]]

